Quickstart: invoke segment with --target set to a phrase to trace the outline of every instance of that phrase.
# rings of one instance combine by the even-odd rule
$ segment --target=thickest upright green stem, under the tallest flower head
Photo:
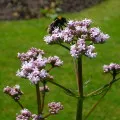
[[[83,80],[82,80],[82,56],[78,58],[77,61],[77,85],[78,85],[78,103],[77,103],[77,113],[76,120],[82,120],[82,110],[83,110]]]

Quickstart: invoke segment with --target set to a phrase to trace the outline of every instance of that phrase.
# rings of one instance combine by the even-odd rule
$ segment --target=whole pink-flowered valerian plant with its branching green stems
[[[119,64],[111,63],[109,65],[104,65],[104,73],[109,73],[112,76],[109,83],[106,83],[91,93],[84,93],[82,57],[95,58],[97,56],[95,44],[102,45],[109,38],[108,34],[104,34],[97,27],[91,27],[91,24],[92,21],[90,19],[81,21],[70,20],[67,21],[64,27],[55,27],[49,35],[44,37],[44,41],[47,44],[58,44],[68,50],[72,56],[75,66],[78,93],[56,83],[54,77],[50,75],[52,69],[63,65],[63,61],[60,60],[58,56],[45,57],[44,51],[37,48],[31,48],[26,53],[18,53],[18,58],[21,61],[21,68],[17,71],[16,75],[29,80],[35,86],[38,113],[32,113],[21,104],[20,97],[23,95],[23,92],[20,90],[19,85],[15,85],[14,87],[7,86],[3,91],[11,96],[22,109],[20,114],[17,114],[16,120],[45,120],[49,116],[58,114],[60,110],[63,110],[63,105],[60,102],[53,101],[48,103],[48,113],[43,114],[46,92],[49,92],[49,87],[47,86],[48,82],[63,89],[67,95],[77,98],[76,120],[86,120],[103,97],[108,93],[113,83],[120,79],[117,76],[120,73]],[[83,118],[82,111],[84,100],[88,97],[97,95],[99,95],[100,98]]]

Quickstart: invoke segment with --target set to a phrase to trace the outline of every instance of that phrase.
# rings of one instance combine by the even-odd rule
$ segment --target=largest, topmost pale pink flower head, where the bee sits
[[[82,54],[90,58],[96,57],[92,44],[104,43],[109,35],[101,32],[99,28],[90,28],[91,23],[90,19],[70,20],[63,29],[55,28],[52,34],[45,36],[44,41],[47,44],[68,43],[71,45],[70,54],[75,58]],[[84,44],[79,44],[80,39],[84,39]]]

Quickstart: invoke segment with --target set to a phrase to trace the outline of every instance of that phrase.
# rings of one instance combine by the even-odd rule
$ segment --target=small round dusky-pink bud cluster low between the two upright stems
[[[60,110],[63,110],[63,105],[60,102],[51,102],[48,107],[50,114],[57,114]]]

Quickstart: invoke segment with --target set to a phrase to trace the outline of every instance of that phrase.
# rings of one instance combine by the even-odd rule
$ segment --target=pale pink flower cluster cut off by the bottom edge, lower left
[[[20,114],[16,116],[16,120],[30,120],[32,113],[28,109],[23,109]]]

